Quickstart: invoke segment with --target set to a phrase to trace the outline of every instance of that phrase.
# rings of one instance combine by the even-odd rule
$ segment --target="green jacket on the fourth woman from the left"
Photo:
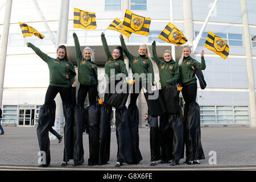
[[[141,73],[144,73],[144,77],[140,77],[139,80],[137,80],[138,78],[135,77],[135,81],[139,81],[139,82],[151,82],[153,83],[155,81],[155,77],[154,77],[154,69],[153,69],[153,65],[150,61],[150,59],[148,59],[148,57],[141,57],[141,56],[134,56],[132,55],[126,45],[125,45],[125,40],[123,40],[123,36],[120,38],[121,40],[121,45],[123,48],[123,52],[125,52],[125,55],[127,56],[127,58],[129,59],[129,63],[131,65],[131,72],[133,72],[133,76],[135,73],[138,73],[138,75],[140,75]],[[152,74],[151,80],[150,78],[147,76],[147,74]]]

